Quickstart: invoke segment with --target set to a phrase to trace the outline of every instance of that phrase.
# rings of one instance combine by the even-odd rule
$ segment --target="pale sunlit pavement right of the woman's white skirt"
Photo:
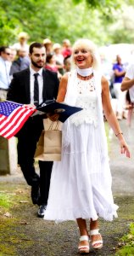
[[[117,138],[109,132],[111,137],[109,163],[113,177],[113,192],[118,195],[134,195],[134,120],[131,127],[128,127],[124,119],[120,121],[120,127],[131,150],[131,158],[128,159],[120,154]]]

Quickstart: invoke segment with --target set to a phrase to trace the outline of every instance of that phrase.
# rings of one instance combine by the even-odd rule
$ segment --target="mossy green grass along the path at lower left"
[[[29,200],[28,190],[23,185],[2,184],[0,191],[0,256],[18,256],[18,247],[30,247],[32,241],[21,242],[25,236],[25,229],[19,230],[20,216],[15,214],[15,209],[25,206],[21,201]],[[8,215],[9,213],[9,215]],[[17,246],[16,246],[17,245]]]

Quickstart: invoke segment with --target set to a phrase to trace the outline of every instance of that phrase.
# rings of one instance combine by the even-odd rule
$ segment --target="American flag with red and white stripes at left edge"
[[[0,102],[0,136],[13,137],[36,108],[16,102]]]

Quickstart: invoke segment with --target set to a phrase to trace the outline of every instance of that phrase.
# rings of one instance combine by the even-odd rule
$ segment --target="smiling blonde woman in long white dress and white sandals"
[[[111,191],[103,112],[119,139],[121,153],[130,157],[130,152],[111,108],[108,81],[98,71],[96,46],[88,39],[79,39],[72,58],[75,69],[61,79],[57,102],[83,109],[64,122],[62,160],[53,164],[45,219],[76,220],[79,252],[89,253],[89,240],[92,247],[103,247],[98,217],[111,221],[118,208]]]

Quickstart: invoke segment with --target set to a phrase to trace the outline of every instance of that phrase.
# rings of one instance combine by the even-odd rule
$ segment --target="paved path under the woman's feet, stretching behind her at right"
[[[100,220],[100,230],[103,235],[103,249],[99,252],[91,250],[89,253],[90,256],[114,256],[115,248],[118,247],[120,237],[126,233],[128,226],[131,221],[133,221],[134,217],[134,121],[132,122],[131,128],[126,126],[126,120],[121,121],[120,126],[126,137],[126,142],[130,146],[131,159],[127,159],[124,155],[120,154],[117,138],[114,134],[112,135],[110,131],[109,137],[111,137],[111,146],[109,151],[109,163],[113,177],[114,201],[120,206],[118,211],[119,218],[115,219],[114,222]],[[13,183],[19,184],[20,188],[26,191],[25,193],[27,193],[27,195],[30,193],[30,188],[26,185],[20,170],[12,176],[0,176],[0,184],[1,183],[3,183],[3,187],[5,188],[8,188],[8,183],[11,184],[10,186],[12,186]],[[14,220],[13,227],[10,227],[10,244],[14,244],[14,238],[16,241],[17,239],[21,241],[15,244],[17,254],[15,253],[12,255],[79,255],[77,253],[79,232],[75,222],[66,222],[57,225],[53,224],[53,222],[46,222],[42,220],[42,218],[36,218],[37,207],[31,204],[30,195],[28,204],[21,204],[20,207],[15,207],[13,211],[16,219],[21,218],[21,222],[27,222],[29,224],[19,225],[18,221],[15,222]],[[13,241],[12,236],[14,236]],[[11,254],[2,255],[11,256]]]

